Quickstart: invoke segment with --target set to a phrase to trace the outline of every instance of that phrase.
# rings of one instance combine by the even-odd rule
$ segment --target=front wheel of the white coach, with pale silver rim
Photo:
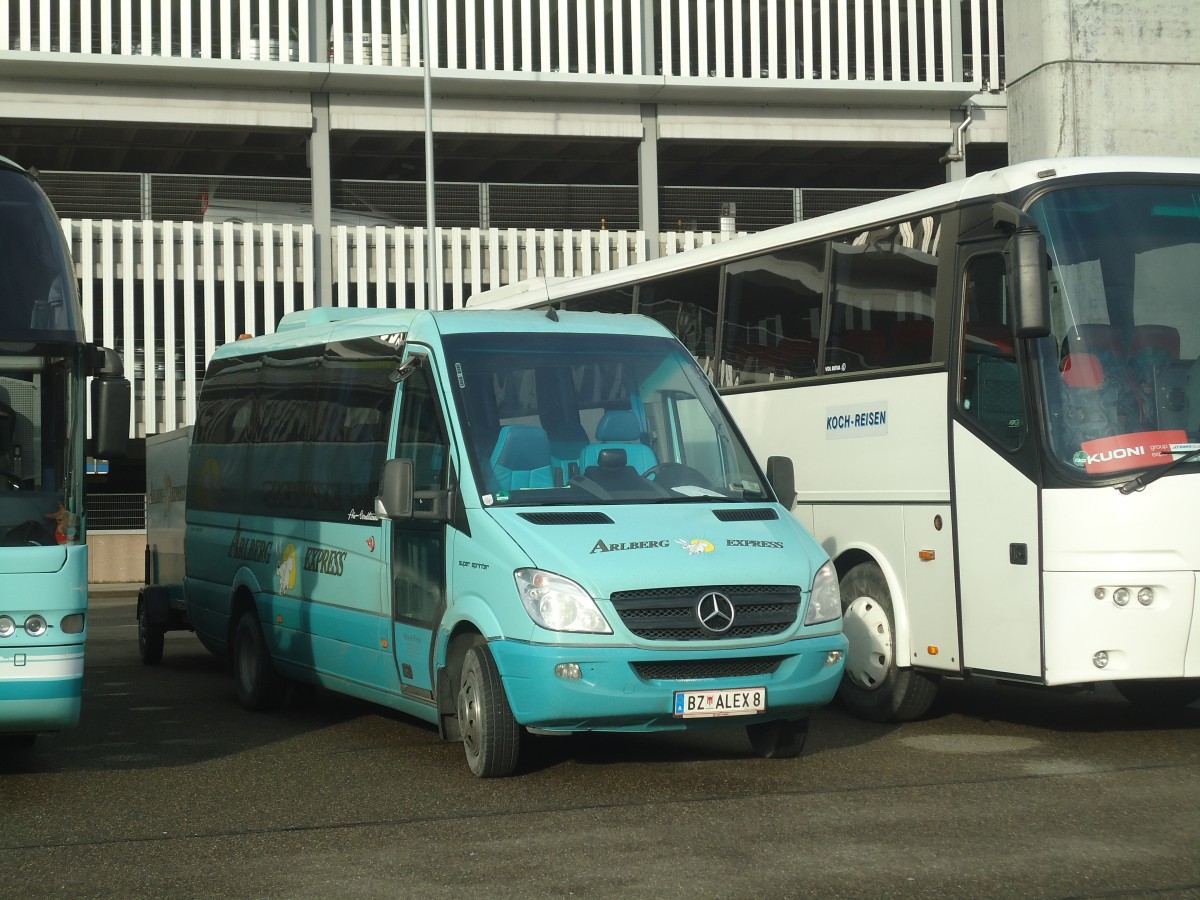
[[[876,722],[910,721],[937,696],[937,680],[896,665],[895,612],[887,580],[875,563],[860,563],[841,580],[842,630],[850,642],[838,688],[846,708]]]

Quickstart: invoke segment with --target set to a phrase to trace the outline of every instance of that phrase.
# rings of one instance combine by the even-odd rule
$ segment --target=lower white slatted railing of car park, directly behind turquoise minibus
[[[133,383],[133,437],[192,421],[216,347],[274,331],[317,305],[312,226],[66,220],[90,340],[120,350]],[[425,229],[337,226],[334,304],[425,307]],[[720,240],[660,235],[659,252]],[[647,257],[642,232],[439,228],[446,307],[529,277],[607,271]]]

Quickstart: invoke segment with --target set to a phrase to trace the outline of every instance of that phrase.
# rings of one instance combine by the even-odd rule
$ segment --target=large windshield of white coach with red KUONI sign
[[[1087,478],[1170,463],[1200,440],[1200,185],[1055,191],[1036,342],[1052,457]]]

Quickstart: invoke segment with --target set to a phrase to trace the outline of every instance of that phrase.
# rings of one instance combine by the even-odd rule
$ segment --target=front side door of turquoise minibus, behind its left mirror
[[[413,368],[401,383],[396,421],[395,456],[413,461],[414,491],[444,491],[450,443],[427,364]],[[421,503],[416,499],[414,509]],[[433,691],[433,630],[445,610],[446,524],[415,517],[385,520],[383,524],[391,551],[392,648],[401,689],[428,698]]]

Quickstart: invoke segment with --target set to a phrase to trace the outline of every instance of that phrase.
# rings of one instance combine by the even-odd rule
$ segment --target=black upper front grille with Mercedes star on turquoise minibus
[[[733,602],[733,626],[713,635],[700,625],[696,604],[709,590]],[[713,641],[779,635],[796,624],[800,588],[796,584],[702,584],[620,590],[611,598],[622,623],[647,641]]]

